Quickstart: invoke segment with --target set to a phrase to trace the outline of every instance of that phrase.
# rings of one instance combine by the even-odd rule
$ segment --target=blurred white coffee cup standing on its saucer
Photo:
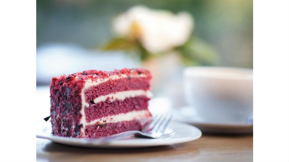
[[[253,111],[253,70],[188,67],[183,71],[185,97],[207,121],[246,122]]]

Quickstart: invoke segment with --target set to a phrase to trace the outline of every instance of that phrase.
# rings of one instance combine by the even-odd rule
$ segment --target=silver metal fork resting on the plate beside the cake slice
[[[113,134],[111,136],[99,138],[99,141],[101,141],[101,143],[107,143],[131,134],[136,134],[138,137],[159,138],[164,134],[165,128],[169,124],[171,118],[171,114],[156,115],[151,123],[146,124],[141,131],[126,131]]]

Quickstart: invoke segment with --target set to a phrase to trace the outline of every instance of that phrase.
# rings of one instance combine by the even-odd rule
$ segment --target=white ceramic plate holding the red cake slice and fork
[[[165,134],[158,139],[137,138],[130,136],[124,139],[111,141],[107,144],[100,143],[97,139],[58,137],[51,135],[50,133],[51,124],[50,122],[47,122],[40,125],[40,129],[37,130],[36,137],[48,139],[60,144],[80,147],[137,148],[184,143],[196,140],[202,135],[198,128],[179,122],[170,122],[168,128],[165,130]]]

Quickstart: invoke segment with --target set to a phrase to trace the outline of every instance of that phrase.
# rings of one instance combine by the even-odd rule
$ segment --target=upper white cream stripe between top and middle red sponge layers
[[[147,98],[152,98],[152,93],[151,91],[145,91],[145,90],[122,91],[122,92],[107,94],[105,96],[99,96],[98,98],[95,98],[93,102],[98,103],[101,101],[106,101],[108,97],[110,98],[110,101],[114,101],[114,100],[124,100],[125,98],[136,97],[136,96],[146,96]]]

